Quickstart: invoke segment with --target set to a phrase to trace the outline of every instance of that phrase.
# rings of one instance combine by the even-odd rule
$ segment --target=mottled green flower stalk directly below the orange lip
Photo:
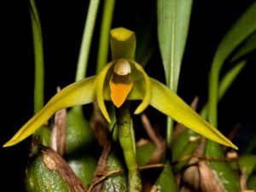
[[[128,169],[128,182],[130,192],[142,190],[142,182],[137,169],[136,142],[131,122],[130,103],[125,102],[116,108],[116,119],[119,132],[119,143],[123,149],[125,164]]]

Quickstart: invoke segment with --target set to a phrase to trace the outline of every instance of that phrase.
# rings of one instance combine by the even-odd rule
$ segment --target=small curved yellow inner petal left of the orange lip
[[[102,111],[103,116],[105,117],[105,119],[108,120],[108,123],[111,122],[111,119],[108,115],[108,111],[107,111],[106,105],[104,103],[103,90],[104,90],[104,87],[106,87],[106,86],[104,86],[104,84],[108,86],[108,84],[106,84],[106,82],[108,83],[108,80],[106,80],[107,73],[108,73],[108,70],[110,69],[110,67],[112,67],[114,63],[115,63],[115,61],[109,62],[102,69],[102,72],[99,73],[96,77],[96,101],[97,101],[99,108]]]

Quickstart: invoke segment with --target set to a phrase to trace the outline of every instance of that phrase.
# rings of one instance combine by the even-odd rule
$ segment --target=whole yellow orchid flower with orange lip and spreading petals
[[[132,60],[136,49],[134,32],[123,27],[111,30],[110,45],[113,61],[97,75],[70,84],[58,92],[3,147],[20,143],[62,108],[97,102],[103,116],[110,123],[105,101],[111,101],[119,108],[125,100],[141,100],[135,114],[142,113],[150,105],[202,136],[237,149],[236,145],[201,118],[165,84],[148,77],[143,67]]]

